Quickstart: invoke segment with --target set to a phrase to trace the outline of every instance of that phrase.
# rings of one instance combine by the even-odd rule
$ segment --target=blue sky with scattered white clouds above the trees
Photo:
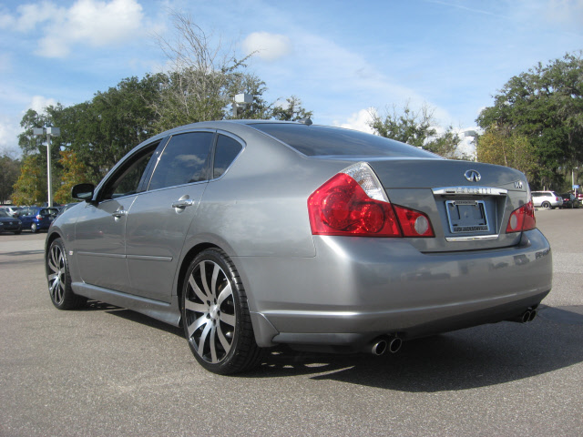
[[[405,105],[475,129],[512,76],[583,49],[583,0],[0,0],[0,155],[20,155],[29,108],[164,71],[173,12],[252,53],[267,101],[296,96],[315,124],[365,131],[371,111]]]

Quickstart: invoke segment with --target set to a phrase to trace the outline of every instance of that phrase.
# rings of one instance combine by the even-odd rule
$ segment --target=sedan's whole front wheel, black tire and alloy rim
[[[46,279],[48,294],[53,305],[59,310],[76,310],[82,308],[87,298],[78,296],[71,288],[71,274],[66,259],[65,244],[62,239],[55,239],[46,254]]]

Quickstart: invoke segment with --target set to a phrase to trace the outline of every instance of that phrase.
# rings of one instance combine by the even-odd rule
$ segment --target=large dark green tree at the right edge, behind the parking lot
[[[528,138],[537,158],[531,183],[561,185],[583,161],[583,60],[567,54],[512,77],[476,119]],[[559,188],[559,187],[557,187]]]

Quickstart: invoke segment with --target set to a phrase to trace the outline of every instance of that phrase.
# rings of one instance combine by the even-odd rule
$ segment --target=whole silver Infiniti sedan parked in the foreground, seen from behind
[[[56,308],[182,326],[220,374],[529,321],[551,289],[524,174],[309,120],[178,127],[72,191],[46,238]]]

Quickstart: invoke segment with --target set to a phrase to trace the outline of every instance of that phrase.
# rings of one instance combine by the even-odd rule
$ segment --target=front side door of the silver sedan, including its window
[[[128,292],[126,221],[158,143],[121,163],[97,188],[77,219],[74,247],[81,278],[90,285]]]

